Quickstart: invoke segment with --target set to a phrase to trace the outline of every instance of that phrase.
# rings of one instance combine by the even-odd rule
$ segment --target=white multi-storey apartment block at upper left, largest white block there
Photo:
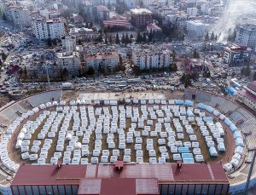
[[[38,39],[61,38],[65,34],[64,22],[60,19],[33,20],[32,29]]]

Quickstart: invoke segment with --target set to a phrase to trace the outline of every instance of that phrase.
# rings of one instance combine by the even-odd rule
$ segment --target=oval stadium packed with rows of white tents
[[[2,107],[0,123],[3,194],[236,194],[256,142],[252,113],[195,89],[50,90]]]

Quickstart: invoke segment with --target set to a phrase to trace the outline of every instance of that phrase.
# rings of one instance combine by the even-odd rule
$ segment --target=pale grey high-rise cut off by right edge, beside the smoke
[[[236,27],[236,43],[241,46],[256,47],[256,25]]]

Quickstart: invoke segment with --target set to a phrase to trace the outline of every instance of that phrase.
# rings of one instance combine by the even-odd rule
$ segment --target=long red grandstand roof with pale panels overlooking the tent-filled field
[[[15,175],[12,186],[20,185],[61,185],[77,184],[80,179],[109,178],[156,178],[161,182],[228,182],[220,163],[183,163],[177,169],[176,163],[165,164],[125,164],[122,171],[117,171],[114,164],[63,164],[56,165],[22,165]]]

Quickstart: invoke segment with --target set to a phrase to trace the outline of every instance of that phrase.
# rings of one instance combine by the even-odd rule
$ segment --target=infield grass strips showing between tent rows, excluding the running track
[[[132,107],[134,107],[134,106],[136,106],[136,105],[133,105]],[[111,107],[108,106],[108,108],[109,108],[110,114],[112,114],[111,113]],[[79,112],[79,106],[78,106],[77,112]],[[139,117],[142,117],[142,112],[141,112],[140,109],[139,109]],[[96,117],[96,119],[97,118],[98,117]],[[36,118],[34,116],[32,116],[31,119],[35,120]],[[32,142],[37,140],[38,134],[41,131],[41,129],[43,129],[43,126],[44,126],[44,123],[46,122],[46,120],[47,120],[47,118],[44,119],[44,122],[39,125],[38,129],[36,129],[35,133],[32,135],[31,144],[29,146],[30,148],[32,146]],[[151,131],[153,131],[155,129],[156,123],[157,123],[157,120],[153,120],[153,125],[151,125],[151,127],[150,127]],[[189,123],[189,124],[191,124],[191,123]],[[118,123],[118,125],[119,125],[119,123]],[[144,125],[147,125],[146,121],[144,121]],[[71,121],[69,123],[68,129],[72,129],[72,127],[73,127],[73,118],[71,119]],[[129,131],[130,127],[131,127],[131,119],[130,118],[126,118],[125,133],[127,133]],[[175,131],[174,124],[172,122],[171,122],[171,127],[172,127],[172,130]],[[60,129],[61,129],[61,125],[59,126],[58,131]],[[210,154],[208,152],[207,142],[205,141],[204,136],[201,135],[200,128],[198,126],[195,126],[195,127],[193,127],[193,129],[194,129],[195,135],[197,136],[197,140],[200,142],[201,153],[202,153],[202,155],[203,155],[203,157],[205,159],[205,162],[207,162],[207,163],[217,162],[218,160],[220,160],[221,158],[224,157],[225,153],[218,153],[218,158],[211,158]],[[135,130],[141,132],[141,135],[142,135],[143,129],[136,128]],[[162,123],[162,129],[161,130],[164,131],[164,123]],[[212,135],[212,133],[210,132],[209,129],[208,129],[208,131],[209,131],[210,135]],[[183,142],[189,141],[189,135],[186,133],[185,129],[183,129],[183,134],[184,134],[184,139],[183,140],[178,140],[178,139],[176,139],[176,140],[177,141],[183,141]],[[46,135],[45,138],[47,138],[47,135]],[[148,163],[149,162],[148,151],[146,150],[146,141],[147,141],[147,139],[153,139],[153,141],[154,141],[153,142],[154,143],[154,150],[156,152],[156,158],[159,158],[160,157],[160,151],[158,149],[159,148],[158,139],[160,139],[160,135],[158,135],[157,137],[151,137],[150,134],[149,134],[147,137],[146,136],[142,136],[142,138],[143,138],[142,147],[143,147],[143,160],[144,160],[144,163]],[[82,143],[82,139],[83,139],[83,137],[79,137],[79,142]],[[52,158],[54,156],[54,152],[56,152],[55,149],[56,149],[56,145],[57,145],[57,140],[58,140],[58,132],[55,133],[55,138],[53,139],[52,146],[49,148],[48,157],[46,158],[46,163],[50,162],[50,158]],[[93,131],[92,135],[90,136],[90,143],[89,143],[90,155],[88,157],[82,157],[82,158],[88,158],[89,162],[90,162],[90,158],[92,157],[92,152],[93,152],[93,150],[95,148],[95,140],[96,140],[96,134]],[[167,146],[167,142],[168,142],[167,138],[165,138],[165,140],[166,140],[167,152],[169,154],[169,159],[166,159],[166,162],[174,163],[176,161],[173,161],[172,152],[170,152],[170,149]],[[136,139],[133,138],[133,144],[126,144],[126,149],[129,149],[129,148],[131,149],[131,162],[136,162],[136,150],[134,149],[135,141],[136,141]],[[224,141],[225,141],[225,145],[226,145],[226,139],[224,139]],[[119,137],[118,137],[118,134],[114,134],[114,142],[115,142],[115,148],[114,149],[119,149],[118,148],[119,147]],[[42,141],[40,147],[42,147],[43,145],[44,145],[44,141]],[[68,141],[65,141],[64,151],[66,150],[67,146],[68,146]],[[161,145],[161,146],[163,146],[163,145]],[[216,147],[216,149],[218,151],[218,148],[217,148],[216,144],[215,144],[215,147]],[[102,134],[102,150],[108,150],[109,151],[109,158],[108,158],[108,161],[109,161],[110,160],[110,156],[112,156],[113,149],[108,149],[107,134]],[[192,150],[193,150],[193,148],[189,149],[190,153],[192,153]],[[63,158],[64,151],[62,152],[62,158]],[[124,150],[119,150],[119,152],[120,152],[119,153],[119,158],[123,159],[123,157],[124,157]],[[38,157],[39,157],[39,153],[40,153],[40,151],[38,151]],[[15,153],[15,155],[20,156],[20,152],[17,151]],[[102,154],[99,156],[99,162],[100,162],[101,156],[102,156]],[[73,155],[71,156],[71,158],[73,158]],[[29,160],[27,160],[25,163],[35,163],[35,162],[30,162]]]

